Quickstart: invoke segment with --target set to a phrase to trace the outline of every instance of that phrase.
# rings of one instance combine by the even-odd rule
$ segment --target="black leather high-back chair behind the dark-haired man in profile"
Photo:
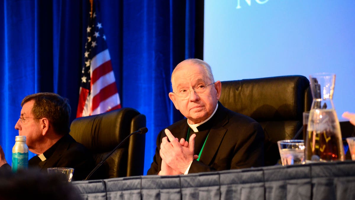
[[[132,108],[122,108],[75,119],[70,135],[92,152],[98,164],[125,137],[142,127],[146,127],[145,115]],[[90,179],[143,175],[145,138],[145,134],[133,134]]]

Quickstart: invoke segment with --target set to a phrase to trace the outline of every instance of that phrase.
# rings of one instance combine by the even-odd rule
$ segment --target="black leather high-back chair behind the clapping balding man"
[[[312,103],[309,84],[301,75],[222,81],[219,101],[263,127],[266,166],[280,159],[277,141],[294,138],[302,127],[302,113],[309,111]]]

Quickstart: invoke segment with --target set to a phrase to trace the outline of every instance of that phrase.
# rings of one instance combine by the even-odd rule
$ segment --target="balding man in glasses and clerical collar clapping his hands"
[[[206,62],[182,61],[171,74],[171,85],[169,98],[187,119],[159,133],[148,175],[263,166],[261,125],[218,102],[221,82],[214,81]]]

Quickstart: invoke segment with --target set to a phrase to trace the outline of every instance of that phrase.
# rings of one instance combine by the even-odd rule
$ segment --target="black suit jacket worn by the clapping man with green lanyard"
[[[258,122],[228,110],[218,102],[214,116],[205,123],[211,129],[200,161],[193,160],[189,173],[263,166],[264,132]],[[189,129],[187,119],[174,123],[168,129],[175,137],[186,138]],[[158,135],[157,148],[148,175],[160,171],[160,143],[165,136],[164,130]]]

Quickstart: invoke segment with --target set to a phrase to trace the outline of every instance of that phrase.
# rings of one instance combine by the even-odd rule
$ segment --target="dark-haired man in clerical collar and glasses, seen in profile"
[[[86,178],[95,163],[88,149],[69,135],[68,100],[54,93],[36,93],[26,96],[21,106],[15,129],[18,135],[26,136],[29,151],[37,154],[28,161],[28,167],[43,172],[50,167],[70,167],[74,168],[73,180]],[[0,146],[0,169],[10,168]]]

